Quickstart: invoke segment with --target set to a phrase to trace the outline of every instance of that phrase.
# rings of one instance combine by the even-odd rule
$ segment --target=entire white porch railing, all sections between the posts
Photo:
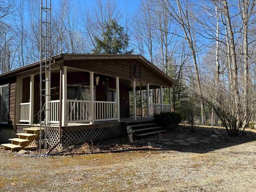
[[[91,101],[67,100],[67,122],[83,123],[91,121]],[[94,101],[94,121],[117,120],[117,102]],[[60,101],[51,101],[51,123],[59,123]],[[163,106],[163,108],[162,108]],[[30,103],[20,103],[20,122],[29,122]],[[169,104],[150,103],[150,116],[162,111],[171,111]],[[147,108],[142,108],[142,115],[147,116]],[[130,106],[130,116],[133,116],[133,106]],[[137,116],[141,116],[141,107],[137,107]]]

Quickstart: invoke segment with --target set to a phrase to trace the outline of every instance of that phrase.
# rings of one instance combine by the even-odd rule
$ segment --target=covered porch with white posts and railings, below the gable
[[[51,126],[139,121],[173,109],[171,87],[66,66],[53,69],[51,78],[45,91],[51,96],[43,101]],[[17,80],[17,124],[38,125],[39,75]]]

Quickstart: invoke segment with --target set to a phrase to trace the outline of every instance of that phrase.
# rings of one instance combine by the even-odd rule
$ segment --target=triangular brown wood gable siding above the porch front
[[[155,73],[146,64],[139,63],[137,60],[70,60],[64,61],[64,65],[94,71],[95,73],[131,79],[131,63],[136,62],[140,65],[140,81],[145,83],[171,86],[161,75]]]

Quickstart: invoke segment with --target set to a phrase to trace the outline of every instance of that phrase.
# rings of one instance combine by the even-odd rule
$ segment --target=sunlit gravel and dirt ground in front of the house
[[[255,131],[230,138],[215,130],[216,139],[210,127],[147,138],[158,150],[51,157],[0,150],[0,191],[255,191]]]

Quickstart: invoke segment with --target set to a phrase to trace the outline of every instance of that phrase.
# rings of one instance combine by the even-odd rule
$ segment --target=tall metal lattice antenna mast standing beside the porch
[[[42,144],[50,144],[51,127],[51,0],[41,0],[40,9],[40,135],[39,153]],[[43,119],[44,118],[44,119]],[[44,134],[43,134],[44,131]]]

